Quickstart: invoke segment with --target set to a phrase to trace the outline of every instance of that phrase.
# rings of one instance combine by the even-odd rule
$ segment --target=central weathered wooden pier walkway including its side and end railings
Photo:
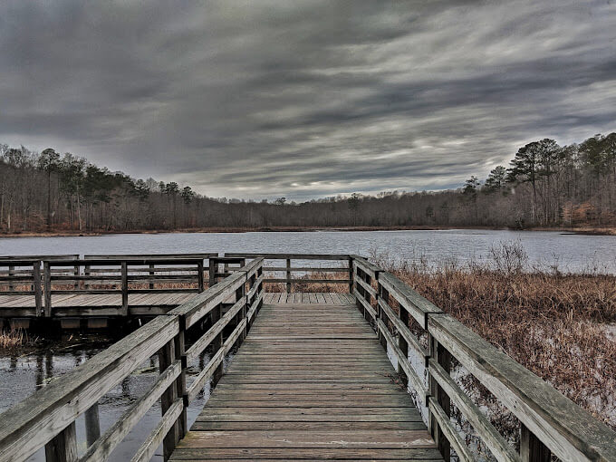
[[[148,270],[182,257],[166,258],[148,263]],[[26,460],[42,448],[49,462],[114,460],[114,449],[158,402],[159,423],[131,462],[150,460],[160,445],[165,460],[193,462],[464,461],[476,460],[477,445],[498,461],[616,462],[610,428],[365,258],[210,258],[228,260],[214,269],[210,264],[207,288],[197,271],[198,293],[187,302],[0,415],[0,462]],[[73,268],[71,284],[79,282],[75,266],[86,260],[60,264]],[[126,289],[123,268],[144,266],[124,262]],[[278,285],[265,292],[265,284]],[[318,284],[322,292],[315,291]],[[207,363],[195,374],[204,354]],[[158,379],[104,433],[88,435],[79,451],[77,419],[96,421],[105,394],[152,357],[158,357]],[[462,373],[519,420],[517,442],[493,426],[467,388],[472,380],[459,381]],[[187,409],[204,390],[211,394],[189,428]],[[460,419],[472,426],[473,438],[460,433]]]

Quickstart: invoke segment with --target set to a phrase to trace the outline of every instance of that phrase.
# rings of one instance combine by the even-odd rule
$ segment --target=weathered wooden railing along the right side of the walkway
[[[616,461],[616,433],[550,384],[476,335],[395,275],[353,255],[358,307],[396,358],[403,380],[428,409],[428,428],[446,460],[475,460],[451,421],[451,405],[499,461]],[[394,307],[395,306],[395,307]],[[410,329],[412,322],[414,329]],[[422,342],[427,339],[427,342]],[[418,360],[427,375],[409,361]],[[452,360],[465,368],[520,421],[516,451],[452,378]]]

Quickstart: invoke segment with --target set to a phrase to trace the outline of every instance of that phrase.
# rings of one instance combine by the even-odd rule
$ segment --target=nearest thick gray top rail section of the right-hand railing
[[[446,314],[430,333],[561,460],[616,460],[616,433]]]

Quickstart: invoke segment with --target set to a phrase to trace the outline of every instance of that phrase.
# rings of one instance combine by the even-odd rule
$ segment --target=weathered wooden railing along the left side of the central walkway
[[[262,304],[263,281],[263,259],[255,259],[8,409],[0,415],[0,461],[25,460],[43,447],[48,462],[105,460],[159,399],[162,417],[131,460],[149,460],[161,442],[167,458],[187,431],[188,405],[207,380],[216,385],[226,353],[245,339]],[[207,330],[186,348],[188,330],[198,331],[206,320]],[[226,326],[233,331],[225,339]],[[187,383],[188,362],[208,346],[211,360]],[[99,399],[153,355],[159,357],[157,380],[80,457],[75,420],[84,413],[96,419]]]

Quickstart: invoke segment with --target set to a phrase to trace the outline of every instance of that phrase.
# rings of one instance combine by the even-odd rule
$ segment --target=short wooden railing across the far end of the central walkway
[[[290,294],[295,284],[345,284],[351,292],[351,255],[342,254],[226,254],[227,257],[265,258],[264,271],[268,274],[265,283],[284,284],[286,293]],[[330,265],[305,265],[306,262],[328,262]],[[343,265],[333,265],[332,262],[342,262]],[[304,265],[301,265],[301,264]],[[301,277],[293,277],[294,274]],[[284,274],[284,277],[280,277]],[[335,277],[318,278],[314,274],[334,274]]]

